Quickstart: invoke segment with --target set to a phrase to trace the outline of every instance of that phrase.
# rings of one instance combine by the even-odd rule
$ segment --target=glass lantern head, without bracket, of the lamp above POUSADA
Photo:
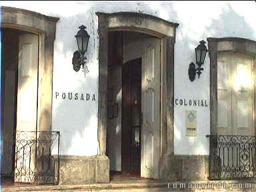
[[[81,55],[84,55],[85,52],[87,52],[87,46],[89,42],[89,35],[87,31],[85,31],[86,27],[84,25],[81,25],[79,27],[79,31],[77,32],[77,35],[75,35],[75,38],[77,39],[77,47]]]

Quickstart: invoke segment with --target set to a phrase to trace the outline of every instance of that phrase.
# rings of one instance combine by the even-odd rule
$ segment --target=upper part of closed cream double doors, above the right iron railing
[[[253,59],[219,53],[217,71],[218,135],[254,135]]]

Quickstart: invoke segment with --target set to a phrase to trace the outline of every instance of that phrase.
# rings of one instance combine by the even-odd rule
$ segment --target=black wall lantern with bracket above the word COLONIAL
[[[207,48],[205,46],[205,41],[200,41],[200,44],[195,48],[195,59],[197,62],[198,67],[195,67],[195,63],[190,63],[189,64],[189,79],[190,81],[194,81],[195,80],[195,75],[197,73],[198,78],[201,75],[201,71],[203,71],[203,62],[205,61],[205,55],[207,53]]]

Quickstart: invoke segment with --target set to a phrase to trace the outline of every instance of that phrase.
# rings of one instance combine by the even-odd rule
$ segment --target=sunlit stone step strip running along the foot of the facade
[[[225,189],[218,188],[217,184],[221,182],[221,185],[225,182]],[[181,183],[185,183],[186,187],[180,188]],[[193,187],[189,189],[189,183],[195,185],[199,183],[199,188]],[[204,183],[205,188],[201,187]],[[213,183],[213,188],[207,189],[207,183]],[[237,183],[236,188],[231,188],[232,183]],[[242,189],[238,189],[238,183],[243,186]],[[251,188],[245,189],[245,183],[251,183]],[[169,185],[169,188],[168,188]],[[174,188],[173,188],[174,186]],[[211,185],[209,185],[211,187]],[[13,185],[3,186],[3,191],[256,191],[256,181],[175,181],[175,182],[163,182],[157,180],[127,180],[127,181],[111,181],[110,183],[95,183],[85,185]]]

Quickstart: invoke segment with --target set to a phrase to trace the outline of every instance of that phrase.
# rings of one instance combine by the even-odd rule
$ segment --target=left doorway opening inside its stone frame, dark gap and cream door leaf
[[[3,35],[1,177],[7,182],[30,183],[33,179],[25,178],[27,175],[24,174],[29,174],[35,167],[35,150],[26,145],[24,138],[21,137],[26,135],[28,138],[35,134],[37,127],[39,37],[27,31],[7,27],[1,28],[1,31]],[[21,169],[25,170],[22,174],[18,171]]]

